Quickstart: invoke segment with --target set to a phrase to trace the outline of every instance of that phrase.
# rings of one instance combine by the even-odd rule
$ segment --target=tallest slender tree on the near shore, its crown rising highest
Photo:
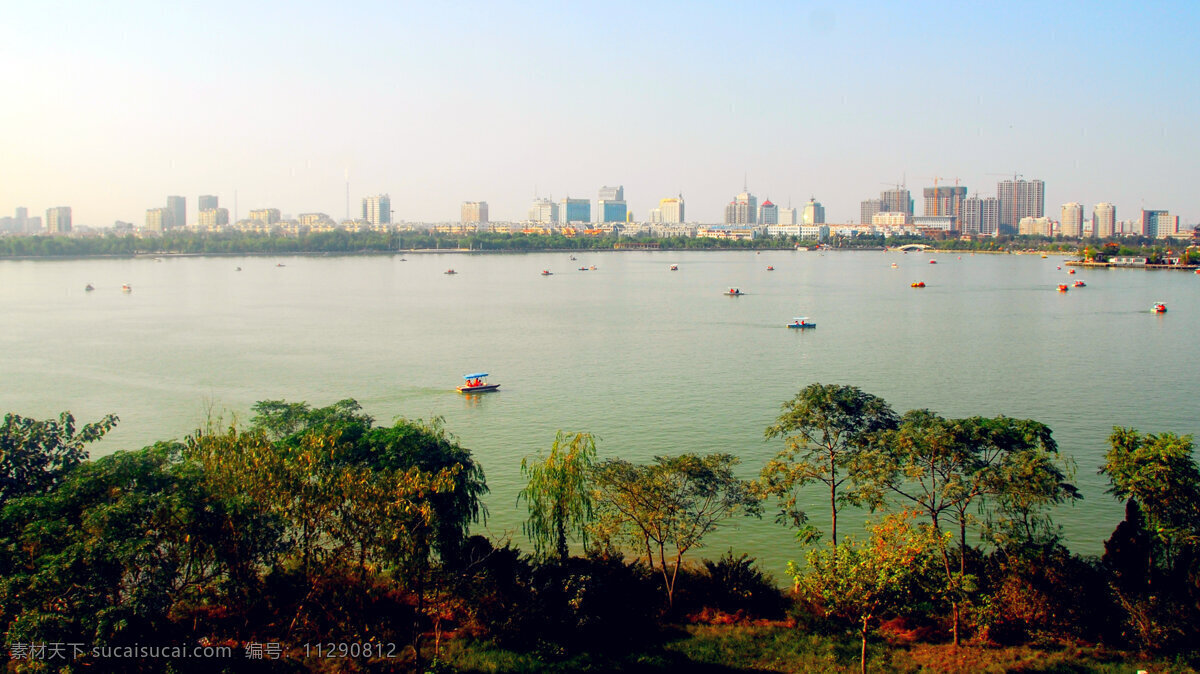
[[[854,457],[871,434],[895,428],[896,415],[883,398],[856,386],[811,384],[784,403],[784,413],[767,428],[767,438],[782,437],[785,449],[762,469],[760,488],[776,497],[779,520],[790,522],[802,538],[817,534],[806,526],[799,507],[800,488],[820,482],[829,489],[833,543],[838,544],[838,511],[852,501],[841,489]]]

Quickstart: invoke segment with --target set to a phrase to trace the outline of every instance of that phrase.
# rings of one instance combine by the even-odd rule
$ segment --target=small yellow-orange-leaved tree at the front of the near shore
[[[916,526],[911,513],[890,514],[868,525],[870,537],[810,550],[808,566],[787,564],[796,591],[829,616],[846,620],[862,639],[859,670],[866,672],[866,638],[875,621],[917,604],[923,583],[944,547],[932,529]]]

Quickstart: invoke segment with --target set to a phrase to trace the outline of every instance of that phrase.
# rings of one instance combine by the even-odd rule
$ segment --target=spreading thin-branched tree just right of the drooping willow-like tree
[[[599,463],[593,470],[598,538],[644,550],[672,604],[688,550],[702,547],[704,536],[734,514],[761,514],[752,482],[733,475],[737,464],[737,457],[724,453],[656,457],[649,465]]]

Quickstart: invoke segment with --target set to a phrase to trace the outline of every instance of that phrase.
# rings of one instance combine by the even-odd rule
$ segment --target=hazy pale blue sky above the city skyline
[[[1200,222],[1200,2],[6,2],[0,215],[524,219],[623,185],[857,222],[905,182],[1020,174],[1118,219]],[[235,204],[236,200],[236,204]],[[235,207],[236,205],[236,207]]]

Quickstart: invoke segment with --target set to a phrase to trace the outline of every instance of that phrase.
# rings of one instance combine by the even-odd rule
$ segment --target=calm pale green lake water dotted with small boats
[[[181,439],[209,409],[245,420],[262,399],[353,397],[380,422],[443,416],[486,471],[487,530],[522,542],[520,462],[559,428],[596,434],[601,458],[731,452],[752,476],[781,449],[763,429],[784,401],[852,384],[898,413],[1050,426],[1085,497],[1056,520],[1082,553],[1122,517],[1097,475],[1112,427],[1200,431],[1198,275],[1068,276],[1062,258],[1038,255],[576,255],[0,261],[0,410],[118,414],[94,455]],[[910,288],[918,279],[928,287]],[[1075,279],[1087,287],[1056,291]],[[1169,313],[1152,314],[1157,301]],[[787,330],[794,315],[818,327]],[[455,393],[478,371],[500,391]],[[812,491],[818,525],[826,498]],[[776,577],[799,554],[770,517],[702,553],[731,546]]]

